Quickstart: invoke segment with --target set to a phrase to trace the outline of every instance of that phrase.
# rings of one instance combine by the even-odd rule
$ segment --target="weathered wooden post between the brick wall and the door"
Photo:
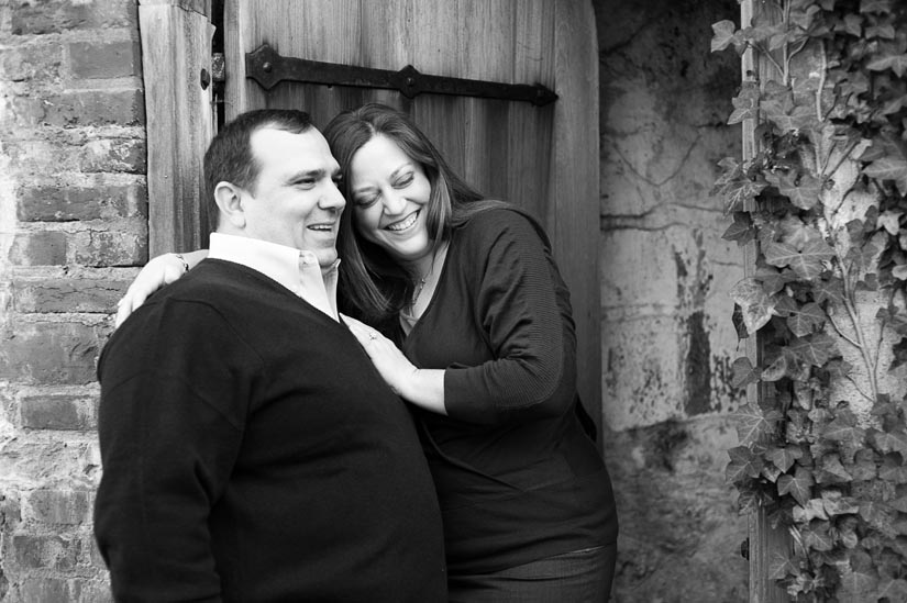
[[[214,132],[210,0],[140,0],[148,178],[148,254],[208,246],[202,157]]]

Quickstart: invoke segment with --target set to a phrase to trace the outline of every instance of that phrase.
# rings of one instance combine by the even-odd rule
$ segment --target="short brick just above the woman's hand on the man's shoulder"
[[[132,220],[109,231],[77,233],[71,241],[73,260],[82,266],[139,266],[148,261],[145,220]]]

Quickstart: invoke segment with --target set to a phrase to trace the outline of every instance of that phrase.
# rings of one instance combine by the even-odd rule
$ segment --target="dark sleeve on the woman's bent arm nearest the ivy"
[[[478,220],[486,215],[479,214]],[[483,424],[565,413],[576,387],[575,338],[566,288],[550,249],[524,216],[489,212],[474,245],[476,325],[495,356],[468,368],[449,367],[444,402],[450,416]],[[473,242],[476,243],[476,242]],[[558,304],[560,298],[560,304]]]

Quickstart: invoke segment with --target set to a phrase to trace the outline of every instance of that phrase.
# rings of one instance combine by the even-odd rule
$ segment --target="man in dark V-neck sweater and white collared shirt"
[[[306,113],[228,124],[208,259],[104,347],[95,532],[118,600],[446,600],[413,425],[339,322],[339,171]]]

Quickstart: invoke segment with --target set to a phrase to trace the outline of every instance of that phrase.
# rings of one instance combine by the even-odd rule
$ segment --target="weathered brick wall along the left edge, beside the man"
[[[147,259],[135,0],[0,0],[0,601],[109,601],[95,364]]]

